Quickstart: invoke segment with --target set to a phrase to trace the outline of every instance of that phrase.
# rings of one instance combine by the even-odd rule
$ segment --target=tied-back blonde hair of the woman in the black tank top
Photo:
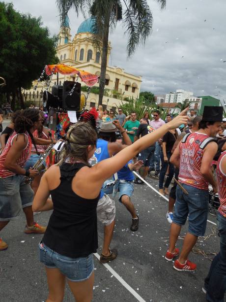
[[[67,157],[88,162],[88,145],[96,145],[97,133],[89,122],[78,122],[70,127],[66,135],[66,144],[61,160],[61,165]]]

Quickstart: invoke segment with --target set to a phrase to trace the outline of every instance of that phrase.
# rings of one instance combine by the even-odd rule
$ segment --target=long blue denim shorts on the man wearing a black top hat
[[[180,226],[186,223],[188,214],[188,232],[195,236],[204,236],[209,208],[209,192],[181,183],[188,191],[185,194],[179,186],[176,187],[175,211],[172,221]]]

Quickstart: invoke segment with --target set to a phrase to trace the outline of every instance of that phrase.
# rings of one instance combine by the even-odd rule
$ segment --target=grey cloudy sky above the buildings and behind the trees
[[[15,9],[42,16],[51,34],[58,34],[59,17],[55,0],[12,0]],[[226,100],[226,1],[167,0],[161,10],[148,0],[154,22],[145,46],[132,59],[126,57],[126,38],[119,23],[110,35],[111,66],[123,67],[142,76],[142,91],[166,94],[176,89],[193,91],[196,96],[218,95]],[[74,36],[84,20],[70,11]]]

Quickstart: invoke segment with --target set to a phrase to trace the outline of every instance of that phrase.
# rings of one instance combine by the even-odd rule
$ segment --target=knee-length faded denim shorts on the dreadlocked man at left
[[[24,175],[0,178],[0,221],[16,219],[22,208],[32,205],[33,198]]]

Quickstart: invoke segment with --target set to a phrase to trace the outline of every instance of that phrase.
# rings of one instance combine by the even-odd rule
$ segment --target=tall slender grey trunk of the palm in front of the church
[[[107,68],[107,57],[108,57],[109,26],[110,26],[110,14],[109,14],[109,16],[107,16],[105,18],[105,21],[104,21],[98,105],[102,105],[103,96],[104,96],[105,77],[106,77],[106,68]]]

